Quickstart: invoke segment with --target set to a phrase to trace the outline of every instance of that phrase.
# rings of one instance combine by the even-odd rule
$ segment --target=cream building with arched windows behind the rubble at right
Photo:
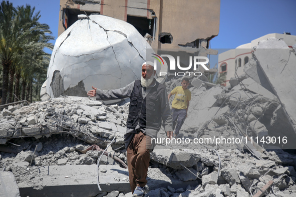
[[[234,49],[220,53],[218,55],[218,71],[220,74],[225,73],[226,75],[226,80],[223,85],[229,85],[228,81],[235,75],[235,70],[237,76],[244,73],[243,66],[249,61],[249,58],[252,57],[253,47],[257,46],[260,40],[264,40],[268,37],[282,39],[289,47],[292,47],[292,45],[296,43],[296,35],[269,33],[252,40],[250,43],[242,44]]]

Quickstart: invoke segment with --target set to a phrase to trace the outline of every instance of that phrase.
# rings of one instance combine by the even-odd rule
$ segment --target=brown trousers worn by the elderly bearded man
[[[139,131],[127,148],[127,165],[132,193],[136,186],[143,187],[147,183],[150,147],[151,137]]]

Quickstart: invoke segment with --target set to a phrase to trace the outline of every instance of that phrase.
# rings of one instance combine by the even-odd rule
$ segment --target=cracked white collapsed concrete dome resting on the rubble
[[[57,38],[43,87],[50,97],[86,96],[92,85],[123,87],[140,78],[147,48],[144,37],[123,20],[79,15]]]

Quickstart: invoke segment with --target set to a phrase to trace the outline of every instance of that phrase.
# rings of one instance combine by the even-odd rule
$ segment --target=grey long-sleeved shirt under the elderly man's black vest
[[[97,99],[98,100],[111,100],[111,99],[121,99],[121,98],[127,98],[131,96],[131,93],[133,91],[135,82],[131,82],[125,87],[119,88],[119,89],[109,89],[109,90],[101,90],[97,89]],[[146,95],[149,93],[151,88],[155,86],[155,81],[152,82],[152,84],[148,87],[142,87],[142,94],[143,98],[146,97]],[[171,109],[169,107],[169,102],[167,98],[167,92],[162,95],[162,100],[165,100],[165,107],[163,107],[163,110],[161,111],[162,114],[162,121],[164,125],[165,131],[172,131],[172,116],[171,116]],[[163,103],[164,104],[164,103]],[[124,135],[124,141],[125,141],[125,146],[129,144],[129,142],[133,138],[133,133],[137,133],[138,131],[146,132],[146,128],[141,128],[140,125],[138,124],[136,128],[127,128],[126,133]],[[150,132],[149,132],[150,133]],[[153,134],[154,136],[151,137],[156,137],[157,135],[157,130],[155,130],[155,133]]]

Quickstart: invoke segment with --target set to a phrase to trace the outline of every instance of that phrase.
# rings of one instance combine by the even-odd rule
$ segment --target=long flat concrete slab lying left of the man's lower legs
[[[128,171],[118,165],[100,165],[105,168],[105,173],[100,172],[99,181],[103,191],[113,190],[129,191]],[[44,166],[35,174],[31,183],[19,182],[23,195],[48,196],[96,196],[100,193],[97,185],[97,165],[55,165]],[[112,174],[112,178],[111,177]],[[42,181],[40,178],[42,177]],[[34,189],[35,186],[39,189]]]

